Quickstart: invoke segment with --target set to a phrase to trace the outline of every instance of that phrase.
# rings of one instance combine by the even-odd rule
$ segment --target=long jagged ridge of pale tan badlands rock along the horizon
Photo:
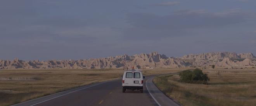
[[[15,68],[180,68],[180,67],[206,67],[212,65],[225,68],[254,67],[256,57],[252,53],[201,53],[191,54],[182,57],[167,57],[157,52],[140,55],[122,55],[108,58],[95,58],[86,60],[33,60],[25,62],[19,59],[0,60],[0,69]]]

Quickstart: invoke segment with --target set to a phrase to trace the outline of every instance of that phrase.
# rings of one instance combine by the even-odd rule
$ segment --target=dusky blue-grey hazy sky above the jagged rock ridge
[[[0,59],[256,53],[256,0],[0,0]]]

